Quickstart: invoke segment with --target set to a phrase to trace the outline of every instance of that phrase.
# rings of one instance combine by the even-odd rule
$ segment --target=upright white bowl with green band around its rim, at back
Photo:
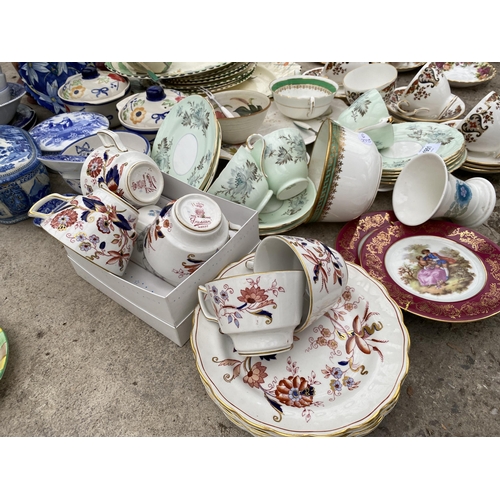
[[[287,76],[269,84],[276,107],[294,120],[311,120],[331,106],[339,85],[328,78]]]

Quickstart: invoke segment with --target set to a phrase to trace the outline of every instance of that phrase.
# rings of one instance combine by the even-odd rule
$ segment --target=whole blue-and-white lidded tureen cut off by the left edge
[[[31,206],[50,192],[40,150],[25,130],[0,125],[0,223],[28,218]]]

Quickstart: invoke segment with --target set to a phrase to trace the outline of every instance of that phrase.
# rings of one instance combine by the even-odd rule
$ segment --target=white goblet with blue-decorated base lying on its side
[[[399,221],[417,226],[446,217],[476,227],[490,217],[496,203],[493,185],[482,177],[466,182],[448,172],[436,153],[422,153],[403,168],[394,185],[392,205]]]

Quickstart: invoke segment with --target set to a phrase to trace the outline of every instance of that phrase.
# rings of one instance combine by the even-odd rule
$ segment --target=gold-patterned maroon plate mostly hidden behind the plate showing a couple
[[[392,210],[363,214],[349,221],[347,224],[344,224],[335,240],[335,250],[337,250],[347,262],[361,265],[359,254],[366,238],[376,229],[397,220]]]

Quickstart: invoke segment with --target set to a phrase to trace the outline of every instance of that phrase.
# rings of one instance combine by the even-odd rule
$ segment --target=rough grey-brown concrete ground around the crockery
[[[2,69],[17,79],[10,63]],[[400,73],[398,86],[415,73]],[[468,112],[499,82],[497,75],[453,92]],[[49,116],[32,107],[39,120]],[[487,178],[498,196],[500,174]],[[57,174],[51,187],[68,192]],[[390,208],[391,194],[379,193],[371,210]],[[341,228],[316,223],[290,234],[334,246]],[[477,231],[500,243],[498,202]],[[0,225],[0,252],[0,327],[10,342],[0,436],[249,436],[206,394],[189,343],[178,347],[77,276],[62,245],[31,219]],[[451,324],[405,312],[404,319],[410,370],[397,405],[370,436],[499,436],[500,316]]]

